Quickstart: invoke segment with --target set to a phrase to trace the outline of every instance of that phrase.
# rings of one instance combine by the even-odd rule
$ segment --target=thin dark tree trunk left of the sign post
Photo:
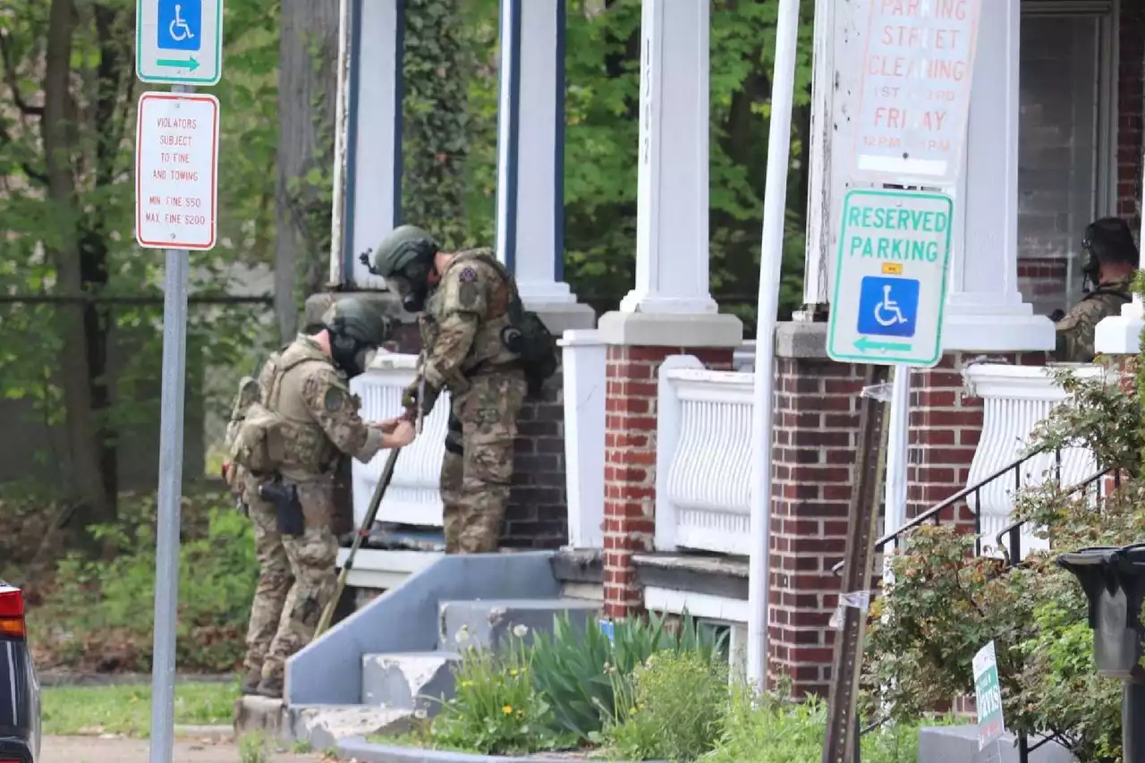
[[[81,214],[77,209],[74,155],[78,151],[76,108],[71,96],[72,32],[76,15],[72,0],[52,0],[48,47],[44,76],[41,131],[48,175],[48,199],[55,223],[45,249],[56,267],[61,293],[82,289],[80,241]],[[81,527],[114,519],[104,483],[98,430],[92,411],[90,348],[82,305],[58,307],[63,351],[60,378],[64,391],[69,466],[68,487],[74,497]]]

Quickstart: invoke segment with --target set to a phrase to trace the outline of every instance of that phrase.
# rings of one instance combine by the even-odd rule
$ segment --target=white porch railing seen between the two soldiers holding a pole
[[[350,391],[362,398],[362,418],[379,420],[401,415],[402,390],[413,382],[417,365],[417,355],[379,353],[370,370],[350,380]],[[397,457],[378,521],[441,526],[439,485],[448,420],[449,393],[442,392],[433,414],[421,423],[421,435]],[[389,451],[381,450],[369,464],[354,461],[354,524],[360,527],[388,457]]]

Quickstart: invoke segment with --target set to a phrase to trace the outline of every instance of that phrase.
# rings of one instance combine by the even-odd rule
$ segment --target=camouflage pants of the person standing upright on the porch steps
[[[520,371],[477,376],[469,385],[452,398],[441,464],[445,553],[497,550],[527,388]]]

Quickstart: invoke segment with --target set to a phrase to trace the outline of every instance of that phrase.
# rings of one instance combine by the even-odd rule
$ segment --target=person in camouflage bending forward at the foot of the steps
[[[322,324],[271,355],[259,373],[258,402],[278,417],[266,440],[282,459],[273,473],[245,470],[239,478],[260,566],[246,637],[245,694],[282,697],[286,659],[313,638],[333,596],[338,459],[345,454],[368,463],[380,449],[413,439],[409,422],[363,422],[361,402],[347,384],[388,338],[387,320],[369,302],[349,298],[327,309]],[[242,440],[242,428],[252,420],[242,416],[242,396],[240,391],[228,427],[231,440]]]

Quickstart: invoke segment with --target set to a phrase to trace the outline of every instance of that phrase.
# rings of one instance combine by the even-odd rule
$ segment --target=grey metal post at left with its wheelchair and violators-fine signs
[[[171,93],[140,96],[135,133],[135,241],[166,250],[150,763],[172,763],[175,746],[190,250],[214,249],[219,237],[219,100],[194,93],[195,85],[215,85],[222,74],[222,3],[135,6],[135,73],[144,82],[174,85]]]

